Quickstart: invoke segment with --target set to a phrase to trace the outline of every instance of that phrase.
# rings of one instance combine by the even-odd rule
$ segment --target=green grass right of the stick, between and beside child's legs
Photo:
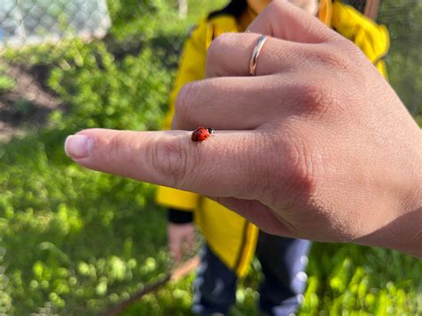
[[[387,264],[386,264],[387,263]],[[422,263],[381,248],[314,244],[308,286],[299,315],[417,315],[422,312]],[[193,274],[145,296],[124,315],[190,314]],[[257,292],[262,275],[257,261],[239,282],[231,315],[259,315]]]

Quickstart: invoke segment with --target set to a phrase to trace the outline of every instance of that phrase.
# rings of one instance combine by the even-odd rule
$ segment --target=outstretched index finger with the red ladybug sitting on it
[[[256,137],[248,131],[218,131],[205,142],[192,142],[186,131],[88,129],[69,136],[65,150],[93,170],[207,196],[254,199],[249,166],[256,152],[248,150],[248,142]]]

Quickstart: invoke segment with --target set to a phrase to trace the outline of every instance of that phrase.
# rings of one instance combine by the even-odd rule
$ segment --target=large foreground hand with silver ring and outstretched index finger
[[[215,39],[166,132],[85,130],[82,166],[213,197],[264,231],[422,257],[422,135],[351,42],[285,2]],[[248,77],[258,34],[272,36]],[[217,129],[191,142],[198,126]],[[85,149],[81,147],[85,145]]]

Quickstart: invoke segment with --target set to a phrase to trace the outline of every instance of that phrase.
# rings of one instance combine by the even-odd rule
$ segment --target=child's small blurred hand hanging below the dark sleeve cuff
[[[193,251],[195,226],[193,223],[169,223],[167,226],[168,248],[176,263],[183,260],[185,251]]]

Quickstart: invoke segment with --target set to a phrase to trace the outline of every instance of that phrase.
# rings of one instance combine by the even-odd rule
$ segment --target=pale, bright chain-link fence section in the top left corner
[[[101,38],[110,28],[105,0],[3,0],[0,20],[0,43],[13,47],[58,43],[66,36]]]

